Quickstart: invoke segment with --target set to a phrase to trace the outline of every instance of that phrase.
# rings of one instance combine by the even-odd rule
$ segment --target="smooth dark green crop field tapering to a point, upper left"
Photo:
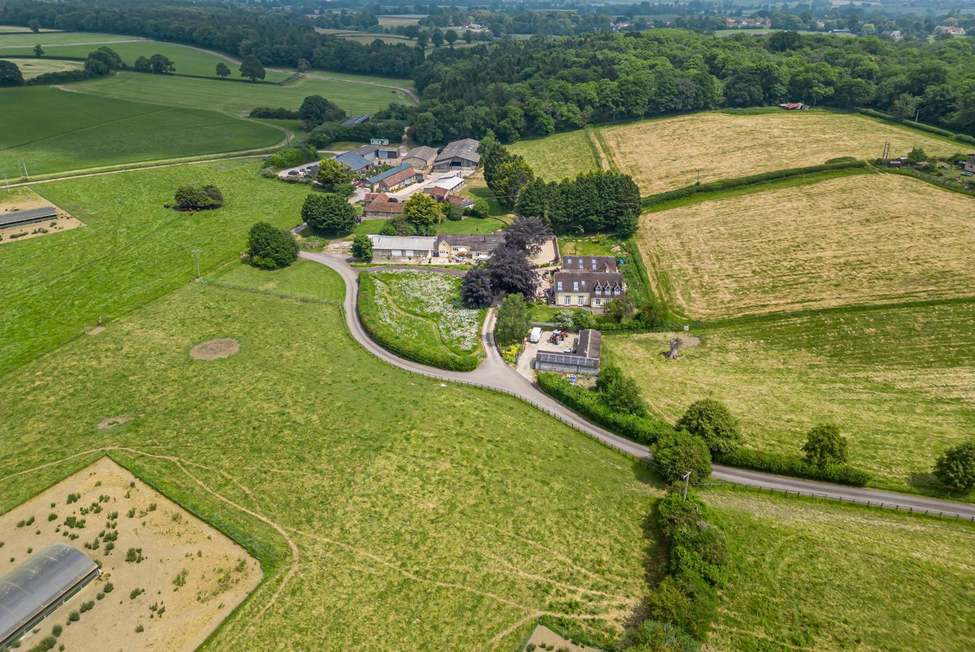
[[[11,180],[21,176],[20,159],[33,177],[268,147],[284,140],[275,127],[215,111],[109,100],[44,86],[0,91],[0,115],[0,173]]]

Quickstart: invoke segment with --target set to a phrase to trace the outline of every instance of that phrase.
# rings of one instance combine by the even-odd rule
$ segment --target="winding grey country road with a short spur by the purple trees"
[[[494,316],[493,311],[488,311],[487,318],[485,319],[485,326],[481,334],[482,341],[485,345],[485,350],[487,350],[487,359],[481,363],[481,366],[471,372],[447,371],[444,369],[438,369],[436,367],[429,367],[427,365],[402,358],[386,350],[382,346],[379,346],[372,341],[372,339],[366,333],[362,323],[359,321],[359,314],[356,311],[356,300],[359,293],[359,272],[362,271],[362,269],[353,268],[352,266],[348,265],[344,258],[332,256],[330,254],[301,252],[299,256],[310,261],[321,263],[322,265],[327,265],[331,267],[331,269],[338,272],[338,274],[342,277],[342,280],[345,282],[345,300],[343,306],[345,308],[345,320],[348,325],[349,332],[361,346],[366,348],[366,350],[376,357],[385,360],[386,362],[399,367],[400,369],[423,376],[454,383],[466,383],[479,387],[487,387],[515,395],[538,409],[541,409],[544,412],[551,414],[555,418],[564,421],[569,426],[582,430],[613,448],[642,459],[649,459],[649,450],[643,444],[631,441],[619,436],[618,434],[610,432],[605,428],[601,428],[590,423],[586,419],[565,407],[565,405],[559,401],[541,391],[538,387],[535,387],[529,383],[525,377],[509,367],[501,358],[500,354],[498,354],[497,349],[494,347],[493,336],[491,335],[491,326]],[[712,477],[726,482],[734,482],[736,484],[744,484],[754,487],[763,487],[778,491],[816,494],[822,498],[830,498],[855,503],[869,502],[871,505],[878,505],[887,508],[908,509],[913,511],[927,510],[935,513],[944,513],[951,516],[960,516],[966,519],[975,519],[975,505],[968,503],[957,503],[954,501],[944,501],[911,494],[879,491],[877,489],[846,487],[838,484],[830,484],[828,482],[801,480],[798,478],[773,475],[770,473],[762,473],[747,469],[722,467],[720,465],[714,465]]]

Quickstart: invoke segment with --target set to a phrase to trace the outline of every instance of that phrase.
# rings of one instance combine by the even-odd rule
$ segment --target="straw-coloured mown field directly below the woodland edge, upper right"
[[[879,158],[890,141],[893,156],[912,147],[931,155],[967,151],[929,134],[862,115],[782,111],[753,115],[712,111],[644,120],[599,130],[620,172],[650,194],[701,182],[818,165],[831,158]]]

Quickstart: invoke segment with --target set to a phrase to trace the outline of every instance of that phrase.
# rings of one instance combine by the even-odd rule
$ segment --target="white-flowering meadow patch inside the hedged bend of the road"
[[[464,306],[460,299],[460,277],[406,269],[376,272],[376,277],[397,306],[434,320],[444,344],[467,352],[477,348],[481,311]],[[380,306],[380,312],[383,309]]]

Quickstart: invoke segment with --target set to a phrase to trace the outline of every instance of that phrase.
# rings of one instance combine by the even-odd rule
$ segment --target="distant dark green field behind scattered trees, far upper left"
[[[114,50],[122,61],[125,61],[129,65],[133,65],[139,57],[145,57],[148,59],[153,55],[164,55],[169,57],[174,63],[176,63],[176,72],[184,75],[200,75],[204,77],[215,77],[216,76],[216,64],[219,62],[226,63],[227,67],[230,68],[230,78],[240,78],[240,63],[234,63],[228,61],[227,59],[220,57],[214,52],[208,52],[204,50],[197,50],[196,48],[190,48],[185,45],[179,45],[178,43],[163,43],[161,41],[147,41],[143,39],[137,39],[136,37],[130,37],[132,41],[118,41],[115,43],[105,43],[105,45],[112,50]],[[87,40],[87,39],[86,39]],[[3,46],[4,39],[0,37],[0,46]],[[42,43],[43,46],[43,43]],[[87,57],[88,53],[93,50],[97,50],[100,45],[52,45],[43,46],[45,47],[44,56],[45,57]],[[11,55],[32,55],[34,51],[34,43],[24,45],[20,48],[3,48],[0,47],[0,56],[5,54]],[[267,70],[267,74],[264,77],[264,81],[277,82],[283,79],[287,79],[290,76],[290,72],[277,72],[275,70]]]

